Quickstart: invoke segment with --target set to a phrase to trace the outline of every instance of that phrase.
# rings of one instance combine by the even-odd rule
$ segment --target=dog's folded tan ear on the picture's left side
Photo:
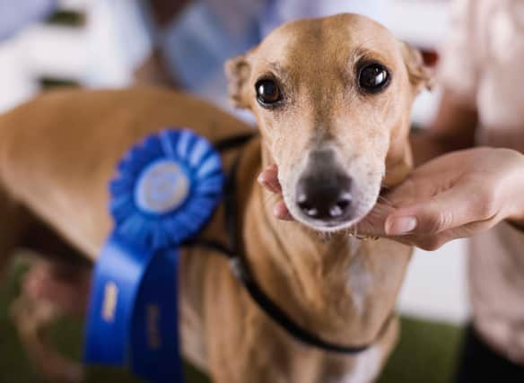
[[[235,108],[249,108],[249,54],[232,57],[225,62],[224,69],[228,79],[228,95],[231,105]]]

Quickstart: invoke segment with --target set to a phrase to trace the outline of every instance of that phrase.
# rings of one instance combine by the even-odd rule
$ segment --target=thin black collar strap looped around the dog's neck
[[[227,151],[229,149],[238,147],[242,144],[246,144],[254,134],[249,135],[238,135],[229,137],[225,140],[214,144],[214,147],[220,152]],[[334,344],[327,342],[319,336],[311,334],[308,330],[298,325],[293,318],[290,318],[283,309],[281,309],[275,301],[271,300],[265,292],[262,291],[257,281],[253,277],[247,265],[245,257],[242,257],[241,246],[239,243],[238,233],[238,209],[237,209],[237,196],[236,196],[236,181],[237,181],[237,170],[240,163],[240,155],[235,159],[229,177],[224,186],[224,205],[225,205],[225,220],[228,232],[229,243],[228,246],[224,246],[222,243],[196,239],[187,242],[186,245],[196,245],[205,248],[213,249],[229,259],[231,266],[231,272],[234,274],[236,279],[244,286],[249,296],[254,300],[259,309],[262,309],[277,325],[281,326],[289,335],[292,335],[297,340],[304,344],[317,347],[321,350],[329,351],[332,353],[361,353],[365,351],[372,344],[380,340],[382,335],[385,334],[389,327],[389,323],[393,318],[393,314],[389,315],[388,319],[384,322],[380,328],[379,334],[371,342],[371,344]]]

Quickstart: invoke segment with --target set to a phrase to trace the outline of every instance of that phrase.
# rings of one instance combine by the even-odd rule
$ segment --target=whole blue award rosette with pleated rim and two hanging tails
[[[181,382],[177,248],[223,190],[218,152],[189,130],[150,135],[120,161],[109,190],[115,228],[95,265],[85,361]]]

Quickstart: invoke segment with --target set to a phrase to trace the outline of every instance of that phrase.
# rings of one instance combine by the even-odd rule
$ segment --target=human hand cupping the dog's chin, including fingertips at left
[[[258,178],[279,193],[274,167]],[[390,237],[434,250],[451,239],[486,231],[502,220],[524,227],[524,155],[508,149],[451,152],[415,169],[357,225],[359,234]],[[284,202],[279,219],[293,219]]]

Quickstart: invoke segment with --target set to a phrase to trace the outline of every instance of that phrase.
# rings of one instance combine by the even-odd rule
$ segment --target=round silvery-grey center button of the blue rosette
[[[188,175],[175,161],[155,161],[142,171],[135,186],[135,203],[146,213],[169,213],[189,195]]]

